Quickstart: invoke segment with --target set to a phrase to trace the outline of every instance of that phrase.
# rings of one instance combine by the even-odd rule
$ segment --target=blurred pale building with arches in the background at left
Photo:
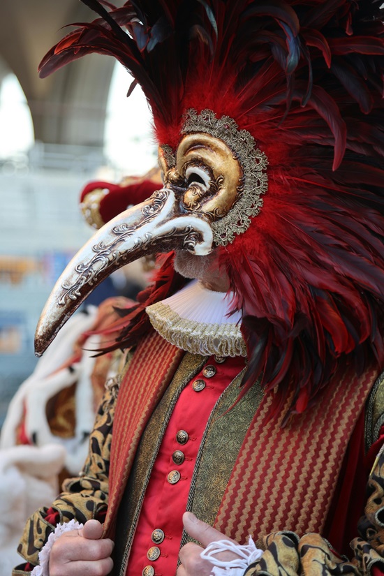
[[[121,3],[120,3],[121,4]],[[147,103],[115,61],[92,55],[45,80],[37,66],[78,0],[0,3],[0,427],[34,369],[34,331],[54,281],[91,230],[78,196],[156,164]]]

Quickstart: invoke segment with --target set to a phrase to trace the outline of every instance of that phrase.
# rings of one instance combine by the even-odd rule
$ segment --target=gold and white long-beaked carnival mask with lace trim
[[[163,188],[105,224],[61,274],[36,329],[37,355],[116,269],[175,249],[205,256],[232,242],[260,211],[267,159],[229,117],[188,110],[177,150],[161,146],[159,163]]]

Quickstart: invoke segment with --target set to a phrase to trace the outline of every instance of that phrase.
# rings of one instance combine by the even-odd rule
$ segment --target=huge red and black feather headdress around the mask
[[[176,147],[185,111],[208,108],[268,157],[260,214],[221,248],[242,310],[245,382],[263,374],[281,401],[294,390],[301,412],[339,362],[383,366],[381,2],[82,1],[100,17],[52,48],[40,75],[110,54],[141,85],[160,144]],[[115,346],[134,344],[149,330],[145,306],[183,283],[166,258],[122,312]]]

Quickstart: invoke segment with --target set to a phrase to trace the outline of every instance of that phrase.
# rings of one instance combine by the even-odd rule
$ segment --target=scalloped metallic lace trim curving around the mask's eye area
[[[216,118],[212,110],[202,110],[199,115],[193,108],[187,110],[182,132],[204,132],[223,140],[242,165],[244,179],[239,199],[226,216],[211,225],[216,245],[226,246],[233,242],[235,235],[242,234],[249,228],[251,216],[256,216],[263,206],[260,195],[268,189],[268,177],[263,172],[267,168],[267,156],[256,147],[251,133],[239,130],[235,120],[229,116]]]

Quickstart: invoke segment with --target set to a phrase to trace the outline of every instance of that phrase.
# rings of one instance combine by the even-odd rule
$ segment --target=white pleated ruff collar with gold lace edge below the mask
[[[202,355],[246,356],[240,312],[228,316],[230,294],[194,280],[146,311],[154,329],[171,344]]]

